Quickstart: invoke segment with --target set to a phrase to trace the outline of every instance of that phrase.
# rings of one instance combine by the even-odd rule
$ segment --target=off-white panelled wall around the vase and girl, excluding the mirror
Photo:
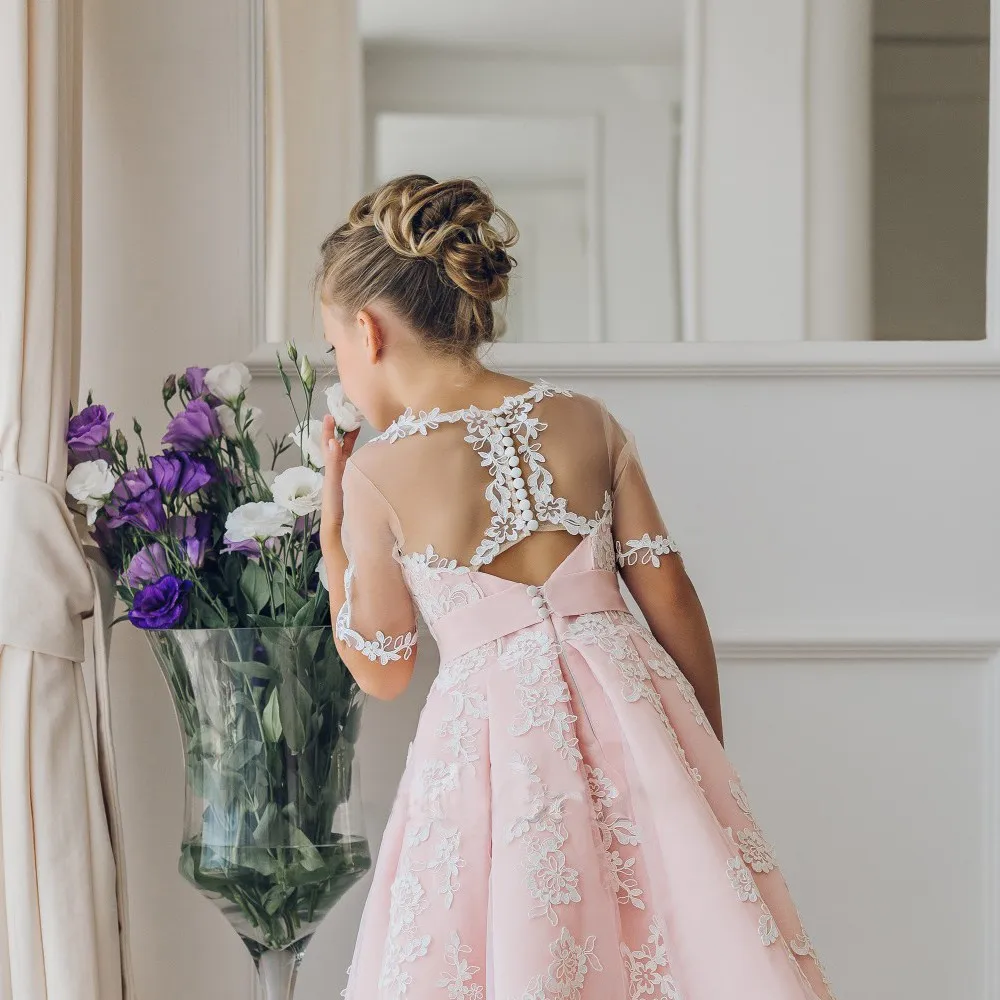
[[[150,439],[166,372],[251,347],[233,10],[88,3],[83,383]],[[638,434],[719,645],[730,752],[841,996],[996,996],[995,377],[573,385]],[[432,669],[369,711],[373,834]],[[176,874],[179,740],[127,626],[113,670],[139,996],[243,1000],[242,946]],[[316,935],[301,1000],[336,997],[361,899]]]

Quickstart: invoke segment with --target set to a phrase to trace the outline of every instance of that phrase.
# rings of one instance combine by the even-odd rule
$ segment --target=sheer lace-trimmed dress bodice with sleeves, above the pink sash
[[[519,565],[535,579],[658,568],[677,550],[631,435],[599,400],[544,381],[489,409],[406,410],[348,462],[344,512],[337,634],[383,664],[412,654],[414,607],[436,631],[458,608],[523,589],[485,567],[539,532],[581,542],[558,567],[541,562],[551,547],[529,546]]]

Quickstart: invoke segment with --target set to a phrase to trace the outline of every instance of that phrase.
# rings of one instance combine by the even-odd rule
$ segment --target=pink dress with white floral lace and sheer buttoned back
[[[605,407],[539,382],[492,410],[407,411],[352,459],[345,511],[339,634],[408,668],[415,603],[441,660],[347,1000],[829,1000],[656,634],[680,556]],[[579,541],[536,583],[487,569],[515,546],[541,564],[551,531]]]

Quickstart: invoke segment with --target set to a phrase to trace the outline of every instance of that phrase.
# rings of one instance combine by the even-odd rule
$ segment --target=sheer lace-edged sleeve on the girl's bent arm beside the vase
[[[346,600],[337,615],[337,638],[383,666],[409,659],[417,644],[413,601],[394,556],[397,537],[392,508],[349,462],[342,530]]]

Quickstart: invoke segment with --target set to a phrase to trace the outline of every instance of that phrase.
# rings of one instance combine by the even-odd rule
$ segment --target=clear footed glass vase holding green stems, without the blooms
[[[322,627],[150,631],[185,755],[181,875],[223,913],[264,1000],[371,867],[356,746],[364,696]]]

